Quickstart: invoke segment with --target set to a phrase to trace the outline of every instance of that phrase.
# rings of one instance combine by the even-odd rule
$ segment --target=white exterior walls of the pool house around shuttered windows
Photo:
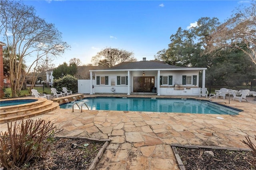
[[[144,71],[145,76],[154,76],[155,78],[155,87],[157,87],[157,70]],[[130,90],[128,89],[128,83],[117,85],[117,76],[128,76],[128,71],[105,71],[105,72],[95,72],[95,79],[102,77],[103,80],[108,81],[106,84],[97,84],[97,80],[92,80],[92,93],[126,93],[129,94],[133,92],[133,77],[142,76],[143,71],[130,71]],[[107,76],[107,79],[104,77]],[[178,70],[178,71],[160,71],[160,76],[172,76],[171,85],[160,85],[160,95],[179,95],[179,96],[198,96],[200,93],[199,84],[199,70]],[[174,90],[175,84],[182,84],[183,76],[196,76],[196,84],[184,84],[183,90]],[[100,80],[98,80],[100,81]],[[191,80],[193,81],[193,80]],[[114,88],[114,90],[113,90]],[[130,92],[129,92],[130,91]],[[90,93],[90,80],[82,81],[78,80],[78,92],[79,93]]]

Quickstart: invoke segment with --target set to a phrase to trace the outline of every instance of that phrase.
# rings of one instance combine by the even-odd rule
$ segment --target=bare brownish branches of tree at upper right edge
[[[228,47],[242,50],[256,64],[256,2],[237,9],[212,35],[214,46],[206,53],[215,53]],[[246,44],[244,48],[243,44]],[[242,45],[242,46],[240,46]]]

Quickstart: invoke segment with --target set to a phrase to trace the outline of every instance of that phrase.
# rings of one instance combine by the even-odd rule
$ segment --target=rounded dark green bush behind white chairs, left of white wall
[[[77,93],[77,78],[71,75],[66,75],[62,78],[54,80],[54,88],[57,91],[62,92],[62,87],[66,87],[68,90],[71,90],[72,93]]]

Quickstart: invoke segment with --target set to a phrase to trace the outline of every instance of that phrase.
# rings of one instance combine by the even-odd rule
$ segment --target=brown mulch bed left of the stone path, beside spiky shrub
[[[88,146],[87,146],[88,145]],[[56,138],[50,151],[31,164],[29,170],[81,170],[93,169],[102,156],[108,141],[81,138]],[[83,148],[82,148],[83,147]],[[98,153],[101,152],[101,155]]]

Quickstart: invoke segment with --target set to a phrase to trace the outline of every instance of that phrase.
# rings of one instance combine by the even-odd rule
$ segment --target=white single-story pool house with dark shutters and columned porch
[[[206,69],[172,66],[146,61],[145,58],[143,61],[125,62],[103,70],[89,70],[90,94],[156,92],[158,96],[198,96],[201,88],[199,72],[202,72],[202,87],[205,87]]]

